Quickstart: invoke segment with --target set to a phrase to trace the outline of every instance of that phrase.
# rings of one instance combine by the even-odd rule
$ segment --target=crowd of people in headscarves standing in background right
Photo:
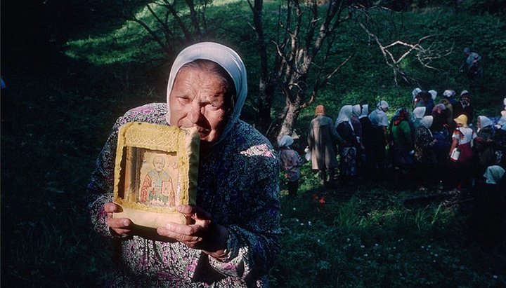
[[[446,90],[436,102],[435,90],[415,88],[412,109],[398,109],[391,119],[384,100],[370,113],[367,104],[345,105],[335,122],[318,105],[307,137],[313,170],[323,184],[335,184],[337,169],[343,183],[397,172],[421,191],[432,184],[472,188],[488,167],[503,173],[506,99],[502,115],[474,121],[470,92],[456,95]]]

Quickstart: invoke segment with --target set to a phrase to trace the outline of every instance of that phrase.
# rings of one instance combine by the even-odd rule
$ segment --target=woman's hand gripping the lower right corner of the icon
[[[179,205],[177,210],[193,219],[194,223],[169,223],[157,228],[159,235],[173,238],[190,248],[203,250],[211,256],[223,254],[228,240],[228,230],[225,227],[216,224],[211,214],[200,207]]]

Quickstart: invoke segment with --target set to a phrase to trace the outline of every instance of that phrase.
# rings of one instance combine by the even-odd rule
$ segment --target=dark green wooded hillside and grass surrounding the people
[[[295,132],[301,148],[316,104],[335,118],[344,104],[410,107],[415,87],[439,97],[466,89],[476,115],[498,116],[506,96],[505,1],[345,1],[326,39],[332,42],[323,43],[302,79],[283,77],[287,71],[276,66],[276,55],[294,51],[282,45],[286,31],[294,35],[287,1],[264,1],[266,62],[253,13],[261,1],[194,1],[195,13],[176,1],[167,22],[154,17],[150,2],[1,1],[2,286],[105,283],[110,247],[91,231],[83,198],[94,160],[118,116],[165,101],[171,60],[189,43],[238,50],[249,78],[242,118],[273,143],[283,129]],[[318,1],[311,22],[310,2],[300,5],[299,40],[328,9]],[[298,46],[307,55],[315,51],[311,39]],[[465,47],[483,58],[480,82],[458,71]],[[282,193],[283,251],[273,287],[505,287],[504,247],[469,241],[468,207],[406,205],[420,192],[395,177],[327,189],[307,163],[302,174],[297,198]]]

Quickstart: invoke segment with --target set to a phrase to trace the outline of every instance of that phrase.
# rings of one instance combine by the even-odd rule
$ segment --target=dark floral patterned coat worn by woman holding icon
[[[200,159],[197,205],[229,232],[227,257],[219,261],[180,242],[131,236],[117,238],[106,224],[112,202],[117,132],[132,121],[168,125],[167,104],[137,107],[120,117],[97,159],[87,200],[94,229],[117,249],[115,287],[267,287],[267,273],[280,251],[279,164],[268,140],[237,121]]]

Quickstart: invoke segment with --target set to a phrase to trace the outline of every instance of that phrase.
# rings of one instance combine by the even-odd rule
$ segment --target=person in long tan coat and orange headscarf
[[[316,117],[309,123],[308,145],[313,170],[319,170],[321,184],[334,183],[337,167],[336,144],[340,141],[332,119],[325,115],[323,105],[316,106]]]

